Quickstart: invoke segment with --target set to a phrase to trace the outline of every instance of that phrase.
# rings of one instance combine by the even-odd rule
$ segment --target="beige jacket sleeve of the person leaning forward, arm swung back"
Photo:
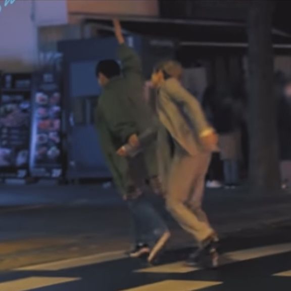
[[[183,88],[178,80],[174,78],[168,79],[165,83],[165,89],[171,99],[183,107],[187,117],[192,123],[192,126],[196,128],[200,136],[213,130],[206,120],[200,103],[195,96]]]

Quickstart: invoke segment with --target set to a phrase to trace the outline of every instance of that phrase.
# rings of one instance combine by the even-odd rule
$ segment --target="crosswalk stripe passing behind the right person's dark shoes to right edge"
[[[268,247],[247,249],[223,254],[220,258],[219,265],[227,265],[235,262],[248,261],[252,259],[278,255],[291,252],[291,244],[282,244]],[[199,268],[187,267],[184,262],[160,265],[151,268],[136,270],[137,273],[188,273],[197,271]]]

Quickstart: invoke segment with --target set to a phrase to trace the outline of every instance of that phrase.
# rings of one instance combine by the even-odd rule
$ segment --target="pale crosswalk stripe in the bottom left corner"
[[[28,291],[31,289],[42,288],[62,283],[78,281],[80,278],[61,278],[61,277],[30,277],[0,283],[2,291]]]

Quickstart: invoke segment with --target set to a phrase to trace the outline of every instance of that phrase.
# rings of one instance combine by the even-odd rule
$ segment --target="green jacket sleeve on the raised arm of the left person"
[[[121,44],[118,49],[118,58],[122,64],[123,74],[141,74],[141,61],[137,53],[127,44]]]

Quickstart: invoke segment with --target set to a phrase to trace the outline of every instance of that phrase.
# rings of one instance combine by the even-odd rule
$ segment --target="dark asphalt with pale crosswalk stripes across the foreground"
[[[158,266],[123,250],[14,269],[0,275],[3,291],[289,291],[290,228],[244,233],[222,241],[216,270],[188,268],[189,250],[168,251]]]

